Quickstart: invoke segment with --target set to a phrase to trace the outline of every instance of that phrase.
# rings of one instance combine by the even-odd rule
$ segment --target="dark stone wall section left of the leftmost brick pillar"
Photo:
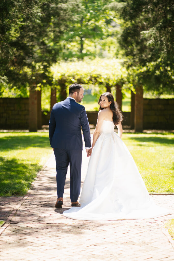
[[[0,98],[0,129],[28,129],[29,99]]]

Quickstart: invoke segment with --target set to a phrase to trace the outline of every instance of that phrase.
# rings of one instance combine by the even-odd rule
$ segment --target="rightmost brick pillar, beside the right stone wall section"
[[[143,88],[138,86],[135,94],[135,120],[134,129],[136,132],[143,130]]]

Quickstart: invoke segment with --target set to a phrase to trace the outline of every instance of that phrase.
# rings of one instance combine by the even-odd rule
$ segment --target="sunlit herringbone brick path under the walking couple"
[[[82,185],[89,158],[83,151]],[[62,209],[55,209],[55,158],[52,155],[38,173],[24,198],[11,199],[0,229],[0,260],[174,260],[174,241],[164,228],[174,215],[149,220],[78,221],[62,216],[69,209],[69,173]],[[174,213],[174,195],[152,196],[156,203]],[[1,204],[7,199],[1,199]],[[107,211],[107,207],[106,207]],[[1,217],[0,217],[1,218]]]

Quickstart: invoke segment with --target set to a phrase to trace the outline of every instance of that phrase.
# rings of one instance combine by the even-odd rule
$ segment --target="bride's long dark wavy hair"
[[[100,105],[101,96],[106,96],[107,99],[108,99],[108,102],[111,102],[110,109],[113,112],[113,123],[116,125],[119,122],[122,122],[123,121],[123,115],[122,115],[121,111],[119,110],[118,104],[115,102],[113,95],[110,92],[105,92],[105,93],[101,94],[99,101],[98,101],[99,105]],[[101,108],[101,106],[100,106],[99,111],[103,110],[103,109],[104,108]]]

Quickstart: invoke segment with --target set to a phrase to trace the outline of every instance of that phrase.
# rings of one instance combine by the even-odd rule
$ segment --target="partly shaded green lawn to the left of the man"
[[[51,155],[48,133],[0,133],[0,196],[23,196]]]

